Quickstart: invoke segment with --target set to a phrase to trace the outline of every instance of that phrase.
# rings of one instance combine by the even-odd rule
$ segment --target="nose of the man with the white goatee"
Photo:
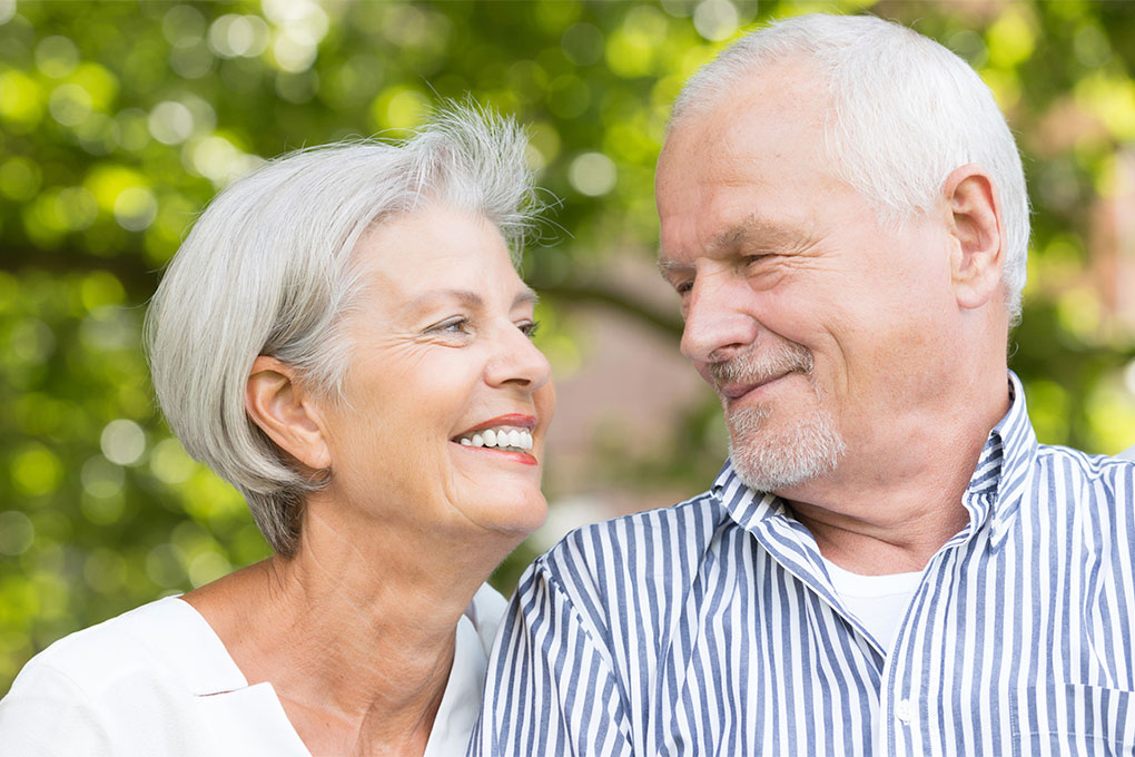
[[[693,283],[686,306],[682,354],[697,363],[728,360],[757,339],[754,292],[725,272]]]

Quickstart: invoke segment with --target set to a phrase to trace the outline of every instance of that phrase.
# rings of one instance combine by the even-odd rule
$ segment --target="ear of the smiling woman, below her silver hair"
[[[322,418],[295,370],[260,355],[244,388],[244,410],[280,449],[313,471],[331,466]]]

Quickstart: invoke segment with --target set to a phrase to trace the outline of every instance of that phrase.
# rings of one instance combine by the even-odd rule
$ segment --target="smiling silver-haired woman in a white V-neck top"
[[[523,150],[455,108],[212,202],[151,304],[151,368],[275,554],[52,645],[0,751],[464,754],[504,609],[485,580],[546,510]]]

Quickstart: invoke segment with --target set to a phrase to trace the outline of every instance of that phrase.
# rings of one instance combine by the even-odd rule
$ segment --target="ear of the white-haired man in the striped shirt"
[[[950,275],[962,308],[981,308],[1002,296],[1004,224],[997,186],[980,166],[956,168],[942,194],[951,233]]]

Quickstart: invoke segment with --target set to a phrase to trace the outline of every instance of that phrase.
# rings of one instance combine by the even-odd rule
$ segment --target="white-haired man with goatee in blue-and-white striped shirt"
[[[536,562],[472,754],[1135,754],[1135,464],[1039,445],[1007,370],[1028,201],[977,75],[766,27],[681,94],[657,203],[730,460]]]

